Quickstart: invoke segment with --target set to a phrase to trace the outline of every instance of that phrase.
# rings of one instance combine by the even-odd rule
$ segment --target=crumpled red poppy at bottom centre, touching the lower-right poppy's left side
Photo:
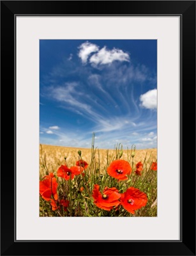
[[[94,204],[106,211],[110,211],[120,204],[119,198],[121,194],[118,193],[116,188],[107,188],[103,190],[103,195],[100,193],[100,186],[95,184],[93,189]]]

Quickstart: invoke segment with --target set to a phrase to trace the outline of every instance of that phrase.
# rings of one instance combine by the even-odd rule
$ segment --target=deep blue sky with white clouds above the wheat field
[[[157,145],[156,40],[40,40],[40,143]]]

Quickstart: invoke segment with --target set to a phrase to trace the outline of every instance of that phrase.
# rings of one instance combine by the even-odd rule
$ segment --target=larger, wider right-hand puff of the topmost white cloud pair
[[[96,54],[93,54],[89,59],[89,62],[94,65],[103,65],[103,64],[110,64],[113,61],[130,61],[130,56],[128,53],[123,52],[120,49],[112,49],[107,50],[106,47],[103,47],[100,51]]]

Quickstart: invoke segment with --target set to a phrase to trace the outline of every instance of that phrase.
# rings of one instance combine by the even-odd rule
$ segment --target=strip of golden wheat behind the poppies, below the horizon
[[[79,158],[78,150],[82,152],[82,159],[87,163],[91,163],[91,148],[74,148],[74,147],[60,147],[52,145],[40,145],[40,176],[43,176],[44,168],[41,167],[43,163],[47,164],[49,172],[56,172],[61,164],[64,164],[64,157],[66,157],[66,163],[68,166],[74,166],[75,162]],[[100,164],[100,172],[105,172],[105,166],[107,166],[107,158],[113,161],[116,157],[116,150],[112,149],[98,149],[95,150],[95,164]],[[146,155],[147,154],[147,155]],[[130,159],[131,150],[124,149],[121,159],[128,161]],[[136,164],[139,161],[144,161],[144,158],[150,158],[150,161],[156,161],[157,149],[147,148],[142,150],[135,150],[135,157],[133,163]],[[129,158],[129,159],[128,159]],[[151,162],[149,162],[150,164]]]

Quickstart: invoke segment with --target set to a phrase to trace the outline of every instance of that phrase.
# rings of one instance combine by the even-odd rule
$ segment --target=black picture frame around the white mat
[[[181,17],[179,241],[15,241],[17,15]],[[1,1],[1,255],[195,255],[195,1]]]

